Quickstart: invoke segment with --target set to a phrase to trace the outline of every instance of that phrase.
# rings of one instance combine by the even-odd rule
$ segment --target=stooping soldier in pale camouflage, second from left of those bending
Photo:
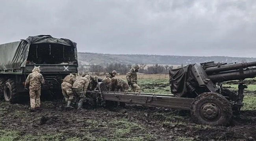
[[[78,101],[78,109],[83,106],[83,103],[85,102],[85,94],[88,88],[88,85],[90,83],[91,77],[89,75],[83,75],[81,78],[78,78],[72,86],[72,89],[76,93],[76,96],[80,98]],[[71,99],[72,100],[72,99]],[[71,101],[68,101],[68,106],[70,107]]]

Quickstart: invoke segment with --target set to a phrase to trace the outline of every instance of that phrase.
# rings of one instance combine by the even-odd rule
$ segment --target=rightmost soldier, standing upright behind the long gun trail
[[[140,88],[137,85],[137,72],[138,72],[139,66],[135,65],[130,69],[130,71],[126,74],[126,79],[128,81],[128,85],[131,86],[132,92],[140,92]]]

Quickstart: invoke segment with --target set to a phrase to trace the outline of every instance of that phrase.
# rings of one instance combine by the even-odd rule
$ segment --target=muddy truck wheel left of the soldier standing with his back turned
[[[13,79],[8,79],[4,85],[4,100],[7,102],[15,102],[16,85]]]

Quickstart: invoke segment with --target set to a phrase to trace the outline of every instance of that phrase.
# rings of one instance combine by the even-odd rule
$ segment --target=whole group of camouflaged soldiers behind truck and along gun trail
[[[126,74],[126,80],[117,78],[117,71],[112,71],[104,78],[98,78],[98,76],[91,76],[89,74],[83,74],[78,76],[76,73],[67,75],[61,83],[62,94],[67,102],[67,107],[73,108],[72,103],[77,103],[77,107],[82,108],[83,103],[86,100],[87,90],[93,91],[97,89],[98,82],[105,84],[104,90],[113,92],[128,92],[129,86],[131,92],[140,92],[140,87],[137,85],[137,72],[139,66],[134,65]],[[31,109],[40,107],[40,95],[41,86],[45,81],[43,75],[40,73],[38,67],[35,67],[31,74],[28,75],[25,88],[30,90],[30,106]],[[78,101],[78,102],[76,102]]]

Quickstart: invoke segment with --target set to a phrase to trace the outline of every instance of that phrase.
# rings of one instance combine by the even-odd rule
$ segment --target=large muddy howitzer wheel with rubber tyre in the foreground
[[[232,107],[221,94],[204,92],[192,102],[191,117],[199,124],[225,126],[232,117]]]

